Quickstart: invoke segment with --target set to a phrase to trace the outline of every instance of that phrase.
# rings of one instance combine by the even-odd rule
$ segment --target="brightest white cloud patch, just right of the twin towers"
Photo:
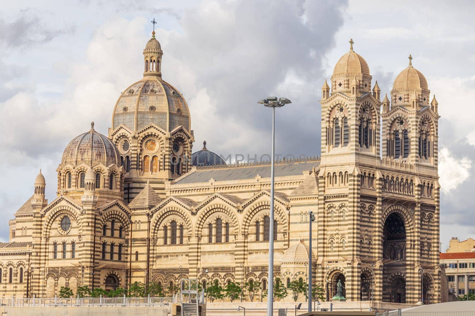
[[[472,161],[466,157],[457,159],[447,148],[439,150],[439,182],[446,193],[455,190],[470,175]]]

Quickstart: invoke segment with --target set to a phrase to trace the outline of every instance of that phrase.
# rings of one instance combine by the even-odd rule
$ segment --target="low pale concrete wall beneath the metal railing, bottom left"
[[[8,316],[168,316],[170,307],[1,307]]]

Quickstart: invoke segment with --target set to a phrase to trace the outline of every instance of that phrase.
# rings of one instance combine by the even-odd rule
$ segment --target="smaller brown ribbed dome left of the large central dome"
[[[66,146],[61,161],[75,166],[82,162],[89,166],[96,163],[103,163],[105,166],[120,163],[117,147],[106,136],[94,130],[94,122],[88,132],[77,136]]]

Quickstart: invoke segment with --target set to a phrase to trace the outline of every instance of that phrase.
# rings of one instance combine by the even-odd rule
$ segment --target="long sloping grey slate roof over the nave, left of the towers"
[[[320,160],[307,160],[293,163],[276,163],[275,176],[293,176],[302,174],[304,171],[318,168]],[[176,184],[208,182],[211,178],[214,181],[244,180],[253,179],[257,175],[262,178],[270,178],[269,164],[244,164],[241,166],[211,166],[197,168],[196,171],[185,174]]]

